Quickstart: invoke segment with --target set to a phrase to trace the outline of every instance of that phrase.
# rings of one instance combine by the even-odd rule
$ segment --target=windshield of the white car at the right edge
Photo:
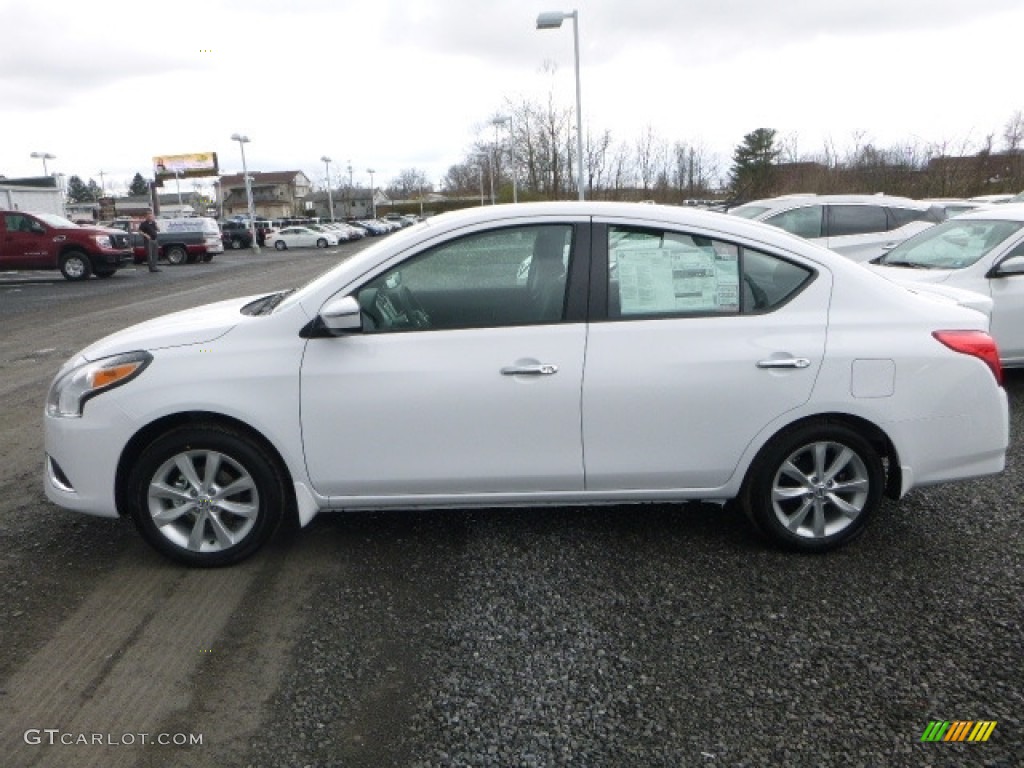
[[[963,269],[1024,226],[1024,221],[949,219],[905,240],[880,264],[924,269]]]

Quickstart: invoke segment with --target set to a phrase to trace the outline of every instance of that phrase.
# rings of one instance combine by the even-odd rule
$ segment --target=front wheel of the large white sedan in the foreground
[[[182,465],[191,468],[190,477]],[[165,556],[217,567],[249,557],[273,535],[285,487],[259,442],[218,424],[182,426],[138,457],[128,478],[129,510],[142,537]]]

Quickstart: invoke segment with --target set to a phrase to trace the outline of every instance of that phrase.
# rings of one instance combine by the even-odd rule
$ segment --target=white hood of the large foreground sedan
[[[152,351],[206,344],[239,325],[244,318],[242,307],[258,298],[259,296],[248,296],[228,299],[155,317],[100,339],[83,349],[81,356],[95,360],[138,349]]]

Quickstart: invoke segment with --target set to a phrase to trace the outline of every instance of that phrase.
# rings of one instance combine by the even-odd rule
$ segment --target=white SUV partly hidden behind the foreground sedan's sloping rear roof
[[[772,224],[854,261],[868,261],[943,219],[930,208],[909,198],[881,195],[793,195],[758,200],[729,213]]]

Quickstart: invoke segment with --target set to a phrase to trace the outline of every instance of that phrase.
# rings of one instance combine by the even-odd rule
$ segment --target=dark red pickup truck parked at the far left
[[[68,280],[110,278],[132,262],[128,236],[52,213],[0,211],[0,270],[59,269]]]

